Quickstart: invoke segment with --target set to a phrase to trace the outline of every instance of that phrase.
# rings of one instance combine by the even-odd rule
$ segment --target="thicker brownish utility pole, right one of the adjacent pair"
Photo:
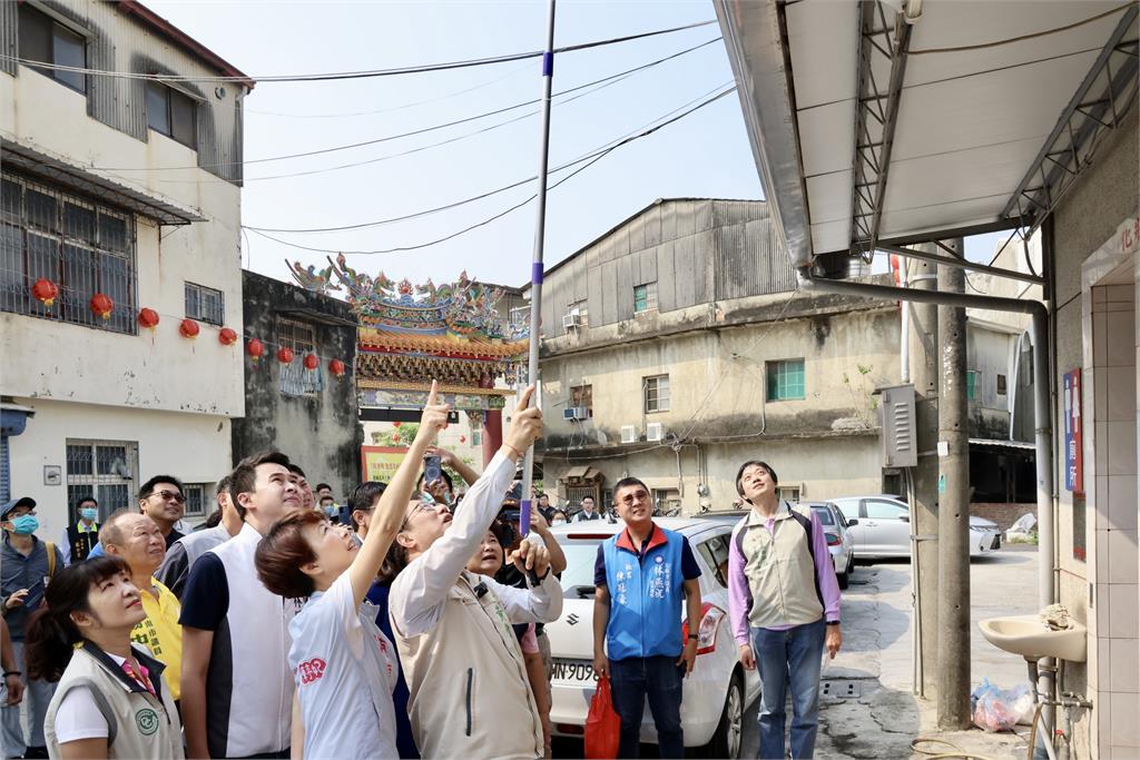
[[[947,242],[959,258],[962,239]],[[963,293],[966,272],[938,265],[938,289]],[[966,309],[938,307],[938,728],[970,726],[970,463]]]

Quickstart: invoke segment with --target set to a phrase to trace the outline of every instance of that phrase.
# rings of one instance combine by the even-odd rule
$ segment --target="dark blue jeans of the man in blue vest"
[[[645,714],[646,696],[657,726],[660,757],[685,757],[685,739],[681,729],[683,676],[684,670],[677,667],[677,657],[610,660],[613,710],[621,718],[619,758],[641,757],[641,721]]]

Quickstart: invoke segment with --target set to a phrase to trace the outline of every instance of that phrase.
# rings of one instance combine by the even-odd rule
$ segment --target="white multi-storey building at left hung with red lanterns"
[[[245,411],[242,346],[219,332],[242,324],[242,99],[253,82],[137,2],[5,2],[0,50],[236,77],[0,59],[0,499],[35,498],[56,538],[79,496],[106,515],[163,473],[187,483],[188,517],[204,515],[230,467],[230,418]],[[179,170],[150,171],[166,167]],[[41,279],[57,291],[50,307],[36,296],[51,287],[33,293]],[[105,318],[89,308],[96,294],[112,302]],[[187,318],[196,338],[180,333]]]

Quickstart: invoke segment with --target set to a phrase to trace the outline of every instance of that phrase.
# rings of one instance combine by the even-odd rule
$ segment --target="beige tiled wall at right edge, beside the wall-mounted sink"
[[[1091,303],[1085,307],[1084,334],[1092,341],[1084,367],[1085,451],[1092,455],[1085,483],[1092,508],[1089,561],[1096,569],[1089,687],[1094,703],[1092,744],[1102,760],[1140,757],[1135,294],[1134,284],[1096,286],[1085,293]]]

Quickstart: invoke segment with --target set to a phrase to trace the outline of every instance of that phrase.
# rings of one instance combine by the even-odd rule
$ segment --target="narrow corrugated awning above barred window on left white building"
[[[160,224],[189,224],[206,219],[197,211],[181,206],[169,198],[137,190],[9,139],[0,139],[0,163],[6,167],[21,169],[60,187],[148,216]]]

